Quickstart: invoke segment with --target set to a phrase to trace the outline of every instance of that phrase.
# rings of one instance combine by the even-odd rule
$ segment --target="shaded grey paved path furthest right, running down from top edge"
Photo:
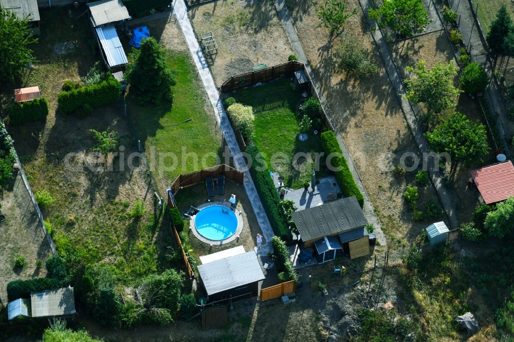
[[[480,34],[481,27],[478,22],[478,18],[475,17],[475,13],[471,9],[471,3],[469,0],[453,0],[450,2],[451,8],[460,15],[460,22],[458,29],[462,33],[462,41],[468,48],[470,49],[473,45],[482,45],[485,50],[487,50],[487,44],[485,42],[484,36]],[[488,59],[485,55],[481,56],[472,56],[473,62],[478,62],[480,64],[488,63]],[[507,143],[506,138],[510,135],[510,130],[508,129],[508,118],[507,111],[505,108],[505,104],[502,101],[500,95],[500,89],[498,89],[497,83],[492,79],[492,67],[488,68],[489,76],[491,77],[491,82],[489,87],[485,92],[485,96],[487,101],[489,102],[489,112],[492,114],[492,117],[495,117],[495,113],[498,113],[497,125],[500,130],[500,135],[502,137],[501,142],[497,142],[499,145],[498,148],[504,149],[505,154],[510,156],[509,145]],[[492,123],[491,123],[492,124]],[[502,146],[503,145],[503,146]]]

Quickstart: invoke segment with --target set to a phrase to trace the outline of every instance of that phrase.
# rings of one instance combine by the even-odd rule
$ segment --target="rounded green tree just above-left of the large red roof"
[[[445,122],[435,127],[432,132],[427,132],[425,136],[430,150],[450,155],[452,178],[460,163],[480,162],[489,150],[484,125],[471,122],[460,112],[449,116]]]

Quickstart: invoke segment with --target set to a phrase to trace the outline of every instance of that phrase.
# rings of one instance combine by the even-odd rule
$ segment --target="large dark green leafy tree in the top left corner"
[[[33,62],[32,37],[28,20],[20,20],[13,11],[0,7],[0,88],[15,83],[26,66]]]

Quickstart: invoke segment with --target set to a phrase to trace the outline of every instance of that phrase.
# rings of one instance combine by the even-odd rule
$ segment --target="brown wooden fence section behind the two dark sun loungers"
[[[173,184],[171,184],[170,186],[171,195],[175,196],[182,187],[205,182],[205,179],[207,177],[212,177],[215,180],[218,175],[224,175],[226,178],[231,179],[239,184],[243,184],[244,181],[244,174],[240,170],[236,170],[231,166],[222,164],[178,176],[177,179],[175,179]],[[175,203],[172,200],[169,192],[168,206],[170,208],[175,207]]]

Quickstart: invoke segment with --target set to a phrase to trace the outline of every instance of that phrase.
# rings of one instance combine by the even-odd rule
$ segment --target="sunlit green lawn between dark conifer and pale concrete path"
[[[126,99],[151,168],[158,182],[162,181],[159,186],[169,186],[180,174],[216,165],[222,143],[221,131],[190,55],[170,51],[168,61],[175,71],[173,104],[143,107],[130,93]],[[183,122],[188,119],[192,120]],[[176,156],[175,161],[171,154]],[[185,154],[190,156],[185,158]]]

